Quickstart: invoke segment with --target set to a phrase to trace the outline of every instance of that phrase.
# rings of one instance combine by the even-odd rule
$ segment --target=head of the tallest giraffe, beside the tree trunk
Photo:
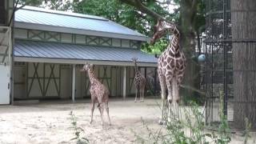
[[[154,26],[154,35],[153,38],[151,38],[150,43],[154,44],[156,40],[162,38],[163,34],[165,34],[167,30],[170,32],[170,34],[175,34],[178,32],[175,24],[158,20],[158,23]]]

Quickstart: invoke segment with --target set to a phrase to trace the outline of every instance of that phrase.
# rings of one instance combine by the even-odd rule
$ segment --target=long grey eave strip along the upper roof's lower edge
[[[129,35],[129,34],[117,34],[117,33],[109,33],[104,31],[94,31],[94,30],[81,30],[74,29],[62,26],[48,26],[41,24],[34,24],[30,22],[14,22],[14,27],[22,28],[22,29],[30,29],[30,30],[46,30],[46,31],[55,31],[69,34],[86,34],[92,36],[106,37],[106,38],[122,38],[122,39],[130,39],[135,41],[149,42],[150,38],[146,36],[137,36],[137,35]]]

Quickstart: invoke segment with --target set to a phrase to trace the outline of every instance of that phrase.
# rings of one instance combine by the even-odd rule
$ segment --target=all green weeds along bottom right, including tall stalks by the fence
[[[223,97],[220,91],[220,97]],[[184,107],[184,119],[171,118],[169,122],[166,120],[166,134],[163,134],[162,128],[157,131],[150,130],[142,120],[143,126],[148,131],[148,138],[142,138],[141,135],[135,134],[137,142],[142,143],[173,143],[173,144],[227,144],[231,142],[230,126],[226,116],[223,114],[223,102],[220,102],[219,117],[221,119],[217,133],[212,130],[207,132],[204,125],[203,112],[195,102],[190,102],[189,107]],[[250,123],[246,118],[245,140],[247,143],[250,138]],[[189,132],[184,132],[189,131]]]

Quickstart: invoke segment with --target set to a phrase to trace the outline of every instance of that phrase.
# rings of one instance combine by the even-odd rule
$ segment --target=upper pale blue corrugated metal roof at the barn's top
[[[31,26],[32,24],[36,26]],[[58,10],[45,10],[34,6],[24,6],[22,9],[17,10],[15,12],[14,26],[36,30],[45,30],[44,28],[46,26],[51,26],[47,27],[47,29],[51,31],[59,31],[60,28],[66,28],[62,29],[63,31],[60,32],[75,33],[76,30],[78,30],[78,34],[88,34],[89,30],[89,34],[97,36],[106,36],[106,34],[101,34],[107,33],[110,38],[119,38],[119,35],[115,34],[122,34],[126,35],[125,38],[128,39],[140,41],[148,40],[145,35],[140,34],[135,30],[131,30],[126,26],[119,25],[116,22],[112,22],[106,18]]]

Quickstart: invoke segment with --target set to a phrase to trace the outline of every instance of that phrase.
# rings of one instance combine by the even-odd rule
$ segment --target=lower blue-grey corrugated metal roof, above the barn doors
[[[60,58],[90,61],[156,63],[157,58],[140,50],[130,48],[111,48],[105,46],[85,46],[56,42],[15,41],[14,57]]]

